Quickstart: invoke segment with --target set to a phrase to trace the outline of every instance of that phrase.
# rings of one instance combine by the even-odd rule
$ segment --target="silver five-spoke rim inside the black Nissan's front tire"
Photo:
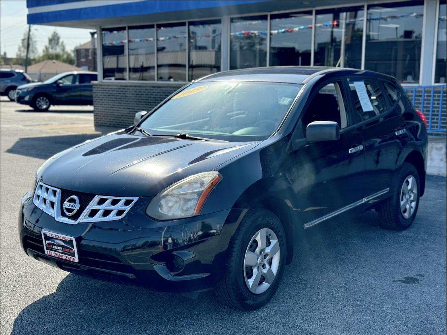
[[[260,294],[273,284],[279,268],[279,242],[273,230],[262,228],[253,235],[244,259],[244,278],[252,293]]]

